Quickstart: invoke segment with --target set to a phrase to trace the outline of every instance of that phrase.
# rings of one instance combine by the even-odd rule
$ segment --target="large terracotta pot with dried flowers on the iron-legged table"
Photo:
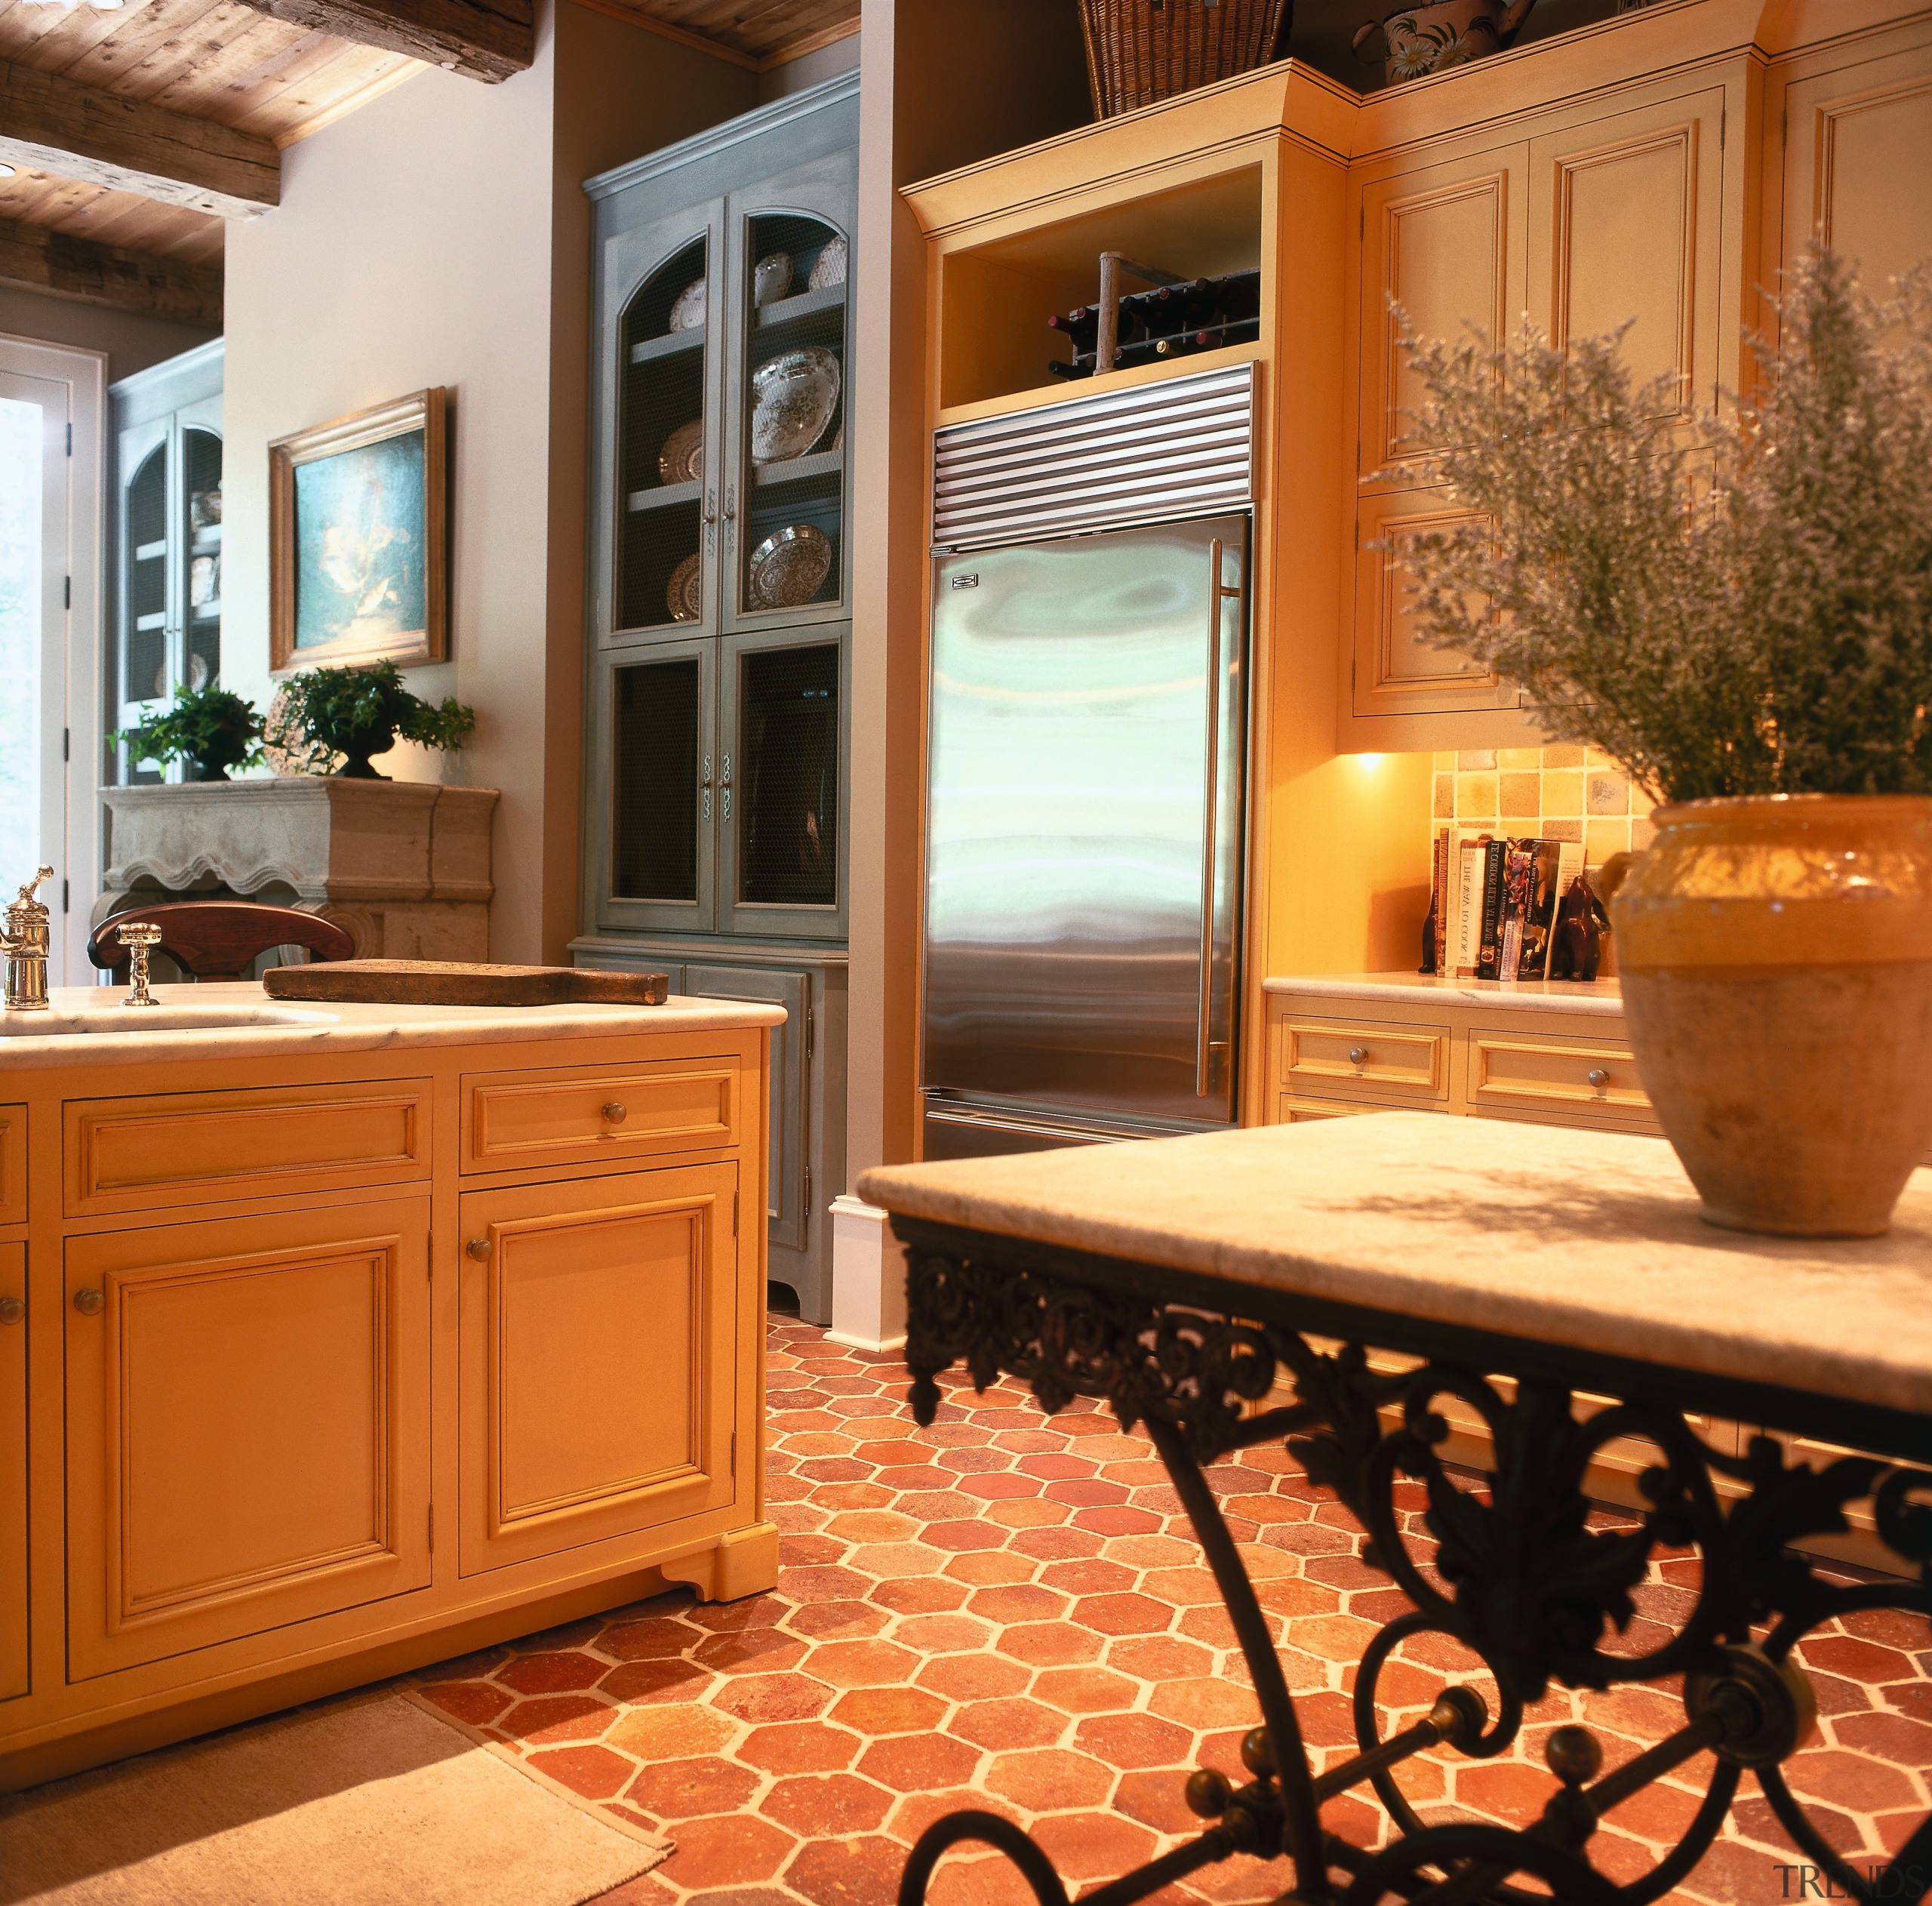
[[[1706,1218],[1888,1229],[1932,1141],[1932,261],[1874,305],[1812,253],[1689,421],[1615,336],[1408,356],[1474,512],[1412,545],[1424,632],[1663,802],[1605,885]]]

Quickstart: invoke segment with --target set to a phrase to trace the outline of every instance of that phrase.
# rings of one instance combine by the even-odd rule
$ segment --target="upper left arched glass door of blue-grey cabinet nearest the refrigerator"
[[[593,595],[599,634],[661,640],[719,630],[719,240],[723,203],[605,244],[605,402],[611,470]]]

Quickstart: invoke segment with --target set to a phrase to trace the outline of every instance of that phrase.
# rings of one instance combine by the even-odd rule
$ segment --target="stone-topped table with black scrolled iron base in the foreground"
[[[1001,1371],[1028,1380],[1047,1411],[1097,1396],[1122,1425],[1146,1425],[1254,1678],[1252,1778],[1190,1776],[1200,1838],[1084,1906],[1126,1906],[1236,1854],[1291,1858],[1283,1900],[1302,1906],[1551,1894],[1648,1906],[1698,1865],[1747,1773],[1832,1896],[1917,1902],[1932,1889],[1932,1819],[1888,1867],[1855,1869],[1779,1773],[1812,1717],[1793,1647],[1859,1610],[1932,1614],[1932,1173],[1907,1187],[1889,1237],[1745,1237],[1700,1222],[1675,1156],[1652,1139],[1389,1112],[898,1166],[864,1173],[858,1193],[893,1214],[906,1245],[914,1415],[933,1419],[933,1376],[964,1361],[981,1386]],[[1424,1361],[1378,1372],[1370,1349]],[[1277,1371],[1293,1398],[1256,1413]],[[1578,1392],[1611,1403],[1584,1419]],[[1493,1427],[1486,1494],[1441,1458],[1449,1401]],[[1876,1454],[1812,1469],[1768,1434],[1731,1454],[1700,1440],[1696,1415]],[[1619,1436],[1658,1452],[1648,1510],[1636,1529],[1592,1529],[1582,1481]],[[1337,1492],[1368,1533],[1362,1558],[1410,1603],[1364,1651],[1358,1753],[1320,1776],[1202,1467],[1273,1438]],[[1432,1556],[1403,1535],[1399,1477],[1428,1490]],[[1719,1479],[1739,1492],[1721,1494]],[[1795,1552],[1843,1529],[1861,1498],[1903,1575],[1845,1583]],[[1702,1562],[1689,1612],[1660,1643],[1615,1645],[1652,1554],[1681,1546]],[[1379,1740],[1378,1682],[1414,1635],[1470,1649],[1493,1676],[1495,1713],[1476,1688],[1451,1686],[1426,1718]],[[1559,1786],[1522,1831],[1430,1827],[1391,1776],[1424,1747],[1505,1751],[1553,1682],[1675,1676],[1683,1724],[1613,1773],[1588,1728],[1549,1736]],[[1598,1821],[1673,1769],[1704,1780],[1704,1802],[1652,1873],[1613,1883],[1590,1862]],[[1320,1825],[1323,1800],[1364,1782],[1391,1819],[1381,1850]],[[1065,1906],[1039,1846],[972,1809],[914,1846],[900,1906],[920,1906],[935,1862],[962,1840],[997,1846],[1041,1906]],[[1524,1877],[1548,1891],[1513,1885]]]

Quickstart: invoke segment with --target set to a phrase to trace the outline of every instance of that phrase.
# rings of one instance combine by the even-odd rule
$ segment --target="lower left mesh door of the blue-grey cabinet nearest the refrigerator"
[[[597,924],[709,934],[717,926],[717,644],[624,650],[601,682],[587,878]]]

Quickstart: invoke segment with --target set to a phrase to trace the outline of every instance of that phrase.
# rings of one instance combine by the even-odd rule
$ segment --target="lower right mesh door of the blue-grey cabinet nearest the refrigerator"
[[[719,644],[719,928],[846,934],[850,624]]]

